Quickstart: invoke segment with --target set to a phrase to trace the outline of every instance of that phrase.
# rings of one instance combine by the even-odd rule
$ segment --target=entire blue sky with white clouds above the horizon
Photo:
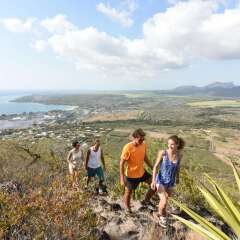
[[[0,0],[0,90],[240,85],[239,0]]]

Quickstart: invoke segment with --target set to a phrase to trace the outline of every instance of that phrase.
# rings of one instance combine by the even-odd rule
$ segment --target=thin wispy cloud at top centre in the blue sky
[[[124,1],[122,5],[127,10],[117,10],[116,8],[111,7],[110,5],[106,5],[104,3],[99,3],[96,6],[96,9],[108,16],[115,22],[119,22],[124,27],[131,27],[134,24],[132,19],[132,15],[137,8],[136,1],[128,0]]]

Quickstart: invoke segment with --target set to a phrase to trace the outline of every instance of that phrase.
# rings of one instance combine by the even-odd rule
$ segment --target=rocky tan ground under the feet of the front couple
[[[99,240],[203,239],[170,215],[168,227],[163,229],[157,221],[157,209],[143,207],[139,201],[132,202],[132,214],[124,211],[120,199],[114,201],[110,197],[95,197],[93,201],[97,206],[95,213],[101,216],[101,227],[96,230]]]

